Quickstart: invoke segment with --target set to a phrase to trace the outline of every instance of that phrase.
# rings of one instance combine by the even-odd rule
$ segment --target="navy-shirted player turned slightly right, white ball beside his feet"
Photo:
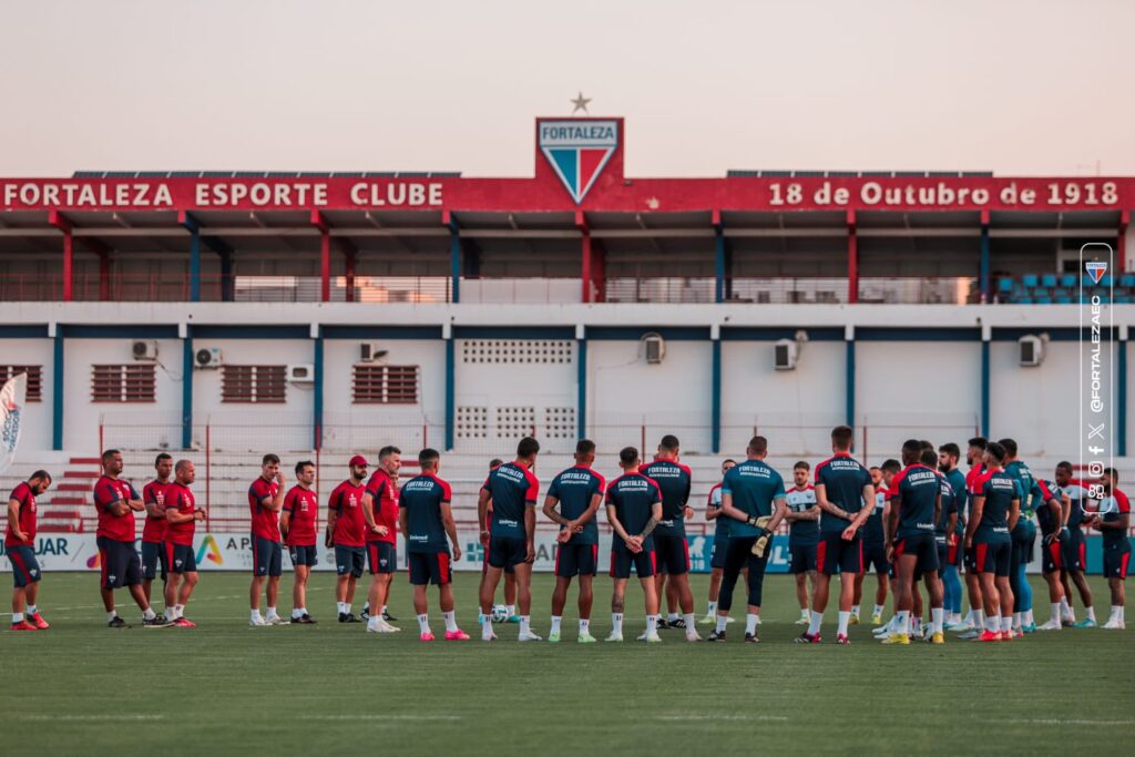
[[[536,557],[536,499],[540,482],[532,473],[540,443],[524,437],[516,445],[516,460],[494,468],[481,486],[477,518],[484,538],[488,531],[488,566],[481,577],[481,640],[496,639],[493,632],[493,597],[504,569],[516,573],[516,604],[520,605],[520,641],[541,641],[532,633],[532,560]],[[489,499],[493,523],[486,522]]]

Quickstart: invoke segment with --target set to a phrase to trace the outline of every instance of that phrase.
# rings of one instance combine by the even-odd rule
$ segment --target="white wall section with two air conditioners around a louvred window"
[[[316,360],[312,339],[193,339],[194,351],[209,347],[219,347],[222,362],[233,365],[313,364]],[[288,384],[284,404],[264,405],[222,403],[220,385],[220,369],[194,369],[195,441],[203,441],[208,422],[215,448],[260,451],[266,438],[275,441],[278,452],[313,447],[314,385]]]

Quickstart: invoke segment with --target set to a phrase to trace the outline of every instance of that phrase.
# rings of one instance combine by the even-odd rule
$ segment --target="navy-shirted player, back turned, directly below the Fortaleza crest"
[[[548,641],[560,641],[560,621],[568,602],[568,588],[579,575],[579,642],[591,644],[591,583],[599,564],[599,527],[595,514],[603,504],[606,482],[591,470],[595,443],[580,439],[575,464],[552,479],[544,498],[544,516],[560,524],[556,537],[556,588],[552,592],[552,631]],[[560,505],[560,512],[556,512]]]

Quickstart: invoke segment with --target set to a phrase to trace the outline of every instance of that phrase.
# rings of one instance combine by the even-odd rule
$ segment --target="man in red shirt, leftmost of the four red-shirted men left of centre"
[[[280,546],[280,508],[284,506],[284,473],[280,459],[267,454],[260,461],[260,476],[249,486],[249,513],[252,518],[252,584],[249,587],[249,625],[287,625],[276,612],[284,572]],[[260,590],[268,579],[268,616],[260,615]]]

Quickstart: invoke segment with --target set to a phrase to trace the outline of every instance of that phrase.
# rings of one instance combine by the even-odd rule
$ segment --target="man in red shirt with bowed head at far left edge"
[[[42,578],[40,564],[35,561],[35,498],[49,486],[51,474],[35,471],[8,497],[8,532],[3,548],[11,562],[11,578],[16,584],[11,591],[12,631],[45,631],[50,628],[35,605]]]

